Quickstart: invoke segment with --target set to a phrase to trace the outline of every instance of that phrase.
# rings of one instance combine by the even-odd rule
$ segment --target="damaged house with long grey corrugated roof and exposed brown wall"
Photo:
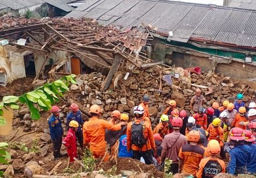
[[[255,78],[256,11],[153,0],[86,1],[66,17],[90,17],[130,29],[150,24],[147,57],[179,67],[200,66],[241,79]]]

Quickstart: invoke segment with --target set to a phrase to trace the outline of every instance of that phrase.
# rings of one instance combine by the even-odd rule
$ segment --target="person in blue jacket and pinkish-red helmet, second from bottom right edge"
[[[227,166],[228,174],[246,174],[246,165],[251,161],[251,148],[244,145],[245,136],[241,128],[234,127],[230,131],[224,150],[230,153],[230,162]]]

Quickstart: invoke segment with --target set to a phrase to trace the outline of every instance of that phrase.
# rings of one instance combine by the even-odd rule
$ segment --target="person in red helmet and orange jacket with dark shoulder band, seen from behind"
[[[194,177],[197,174],[197,169],[201,159],[204,158],[205,150],[197,145],[200,139],[198,131],[190,131],[187,135],[189,144],[181,146],[179,150],[179,173],[189,173]]]

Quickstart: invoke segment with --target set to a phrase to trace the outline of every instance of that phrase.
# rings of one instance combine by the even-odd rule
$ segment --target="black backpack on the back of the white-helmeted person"
[[[147,139],[143,136],[143,124],[144,121],[140,121],[139,124],[133,121],[131,128],[131,142],[140,148],[147,142]]]

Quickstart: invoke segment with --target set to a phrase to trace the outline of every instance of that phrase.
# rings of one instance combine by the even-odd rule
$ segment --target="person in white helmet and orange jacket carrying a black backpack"
[[[127,125],[127,150],[132,150],[134,159],[140,160],[143,157],[147,165],[153,164],[152,149],[156,145],[151,124],[143,119],[143,107],[135,106],[133,113],[134,121]]]

